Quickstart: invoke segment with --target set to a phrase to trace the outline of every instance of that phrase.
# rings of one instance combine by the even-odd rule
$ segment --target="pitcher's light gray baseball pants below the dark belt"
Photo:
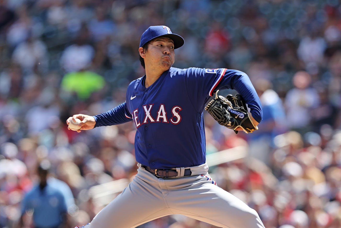
[[[129,186],[86,228],[130,228],[172,214],[218,227],[265,228],[255,210],[211,180],[207,164],[189,168],[189,177],[164,179],[139,167]]]

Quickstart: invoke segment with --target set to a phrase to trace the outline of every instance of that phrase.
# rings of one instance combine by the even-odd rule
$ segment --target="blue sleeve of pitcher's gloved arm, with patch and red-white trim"
[[[205,104],[217,90],[233,89],[244,98],[253,118],[258,123],[262,120],[261,101],[246,73],[226,68],[189,68],[185,80],[189,96],[195,95],[192,100],[198,111],[204,109]]]

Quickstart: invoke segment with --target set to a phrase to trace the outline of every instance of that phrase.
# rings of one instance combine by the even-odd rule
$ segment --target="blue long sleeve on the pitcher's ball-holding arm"
[[[111,126],[126,123],[132,120],[132,117],[127,109],[127,104],[125,102],[107,112],[93,117],[96,121],[95,127]]]

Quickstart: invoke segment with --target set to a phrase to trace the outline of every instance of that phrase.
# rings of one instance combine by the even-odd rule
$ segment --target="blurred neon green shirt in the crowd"
[[[105,80],[101,75],[92,71],[77,71],[67,73],[61,87],[68,92],[76,92],[79,99],[87,99],[92,92],[103,89]]]

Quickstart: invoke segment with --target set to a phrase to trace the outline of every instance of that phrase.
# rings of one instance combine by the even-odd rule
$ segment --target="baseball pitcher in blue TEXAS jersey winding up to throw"
[[[138,49],[146,75],[129,84],[125,102],[96,116],[77,114],[66,120],[81,120],[77,132],[128,121],[137,129],[136,176],[86,228],[136,227],[172,214],[218,227],[264,228],[255,210],[210,177],[203,115],[206,109],[236,133],[250,133],[262,120],[260,99],[241,71],[172,67],[174,50],[183,44],[167,26],[150,26]],[[212,99],[220,89],[239,94]]]

